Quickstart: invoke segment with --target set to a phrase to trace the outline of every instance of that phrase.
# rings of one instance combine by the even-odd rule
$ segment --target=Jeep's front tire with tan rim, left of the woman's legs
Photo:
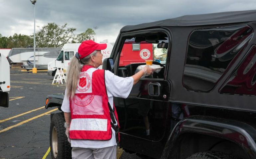
[[[71,159],[71,146],[64,128],[64,113],[53,115],[50,126],[50,147],[52,159]]]

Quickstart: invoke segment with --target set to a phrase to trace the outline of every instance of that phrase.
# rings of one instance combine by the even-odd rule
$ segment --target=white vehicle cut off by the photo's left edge
[[[9,107],[10,65],[5,55],[0,53],[0,106]]]

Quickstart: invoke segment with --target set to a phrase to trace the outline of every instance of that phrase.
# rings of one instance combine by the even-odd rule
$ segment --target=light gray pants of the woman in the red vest
[[[72,159],[116,159],[116,146],[105,148],[72,148]]]

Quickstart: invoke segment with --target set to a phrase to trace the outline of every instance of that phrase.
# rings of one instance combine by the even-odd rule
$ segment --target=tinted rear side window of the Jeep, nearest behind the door
[[[210,91],[252,38],[247,25],[194,30],[187,49],[183,84],[193,91]]]

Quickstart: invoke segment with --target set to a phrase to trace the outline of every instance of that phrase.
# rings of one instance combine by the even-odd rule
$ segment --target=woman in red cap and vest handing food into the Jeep
[[[152,74],[148,65],[127,78],[97,69],[102,65],[100,50],[106,47],[92,40],[83,41],[68,67],[61,109],[73,159],[116,158],[119,125],[113,97],[127,98],[143,75]]]

